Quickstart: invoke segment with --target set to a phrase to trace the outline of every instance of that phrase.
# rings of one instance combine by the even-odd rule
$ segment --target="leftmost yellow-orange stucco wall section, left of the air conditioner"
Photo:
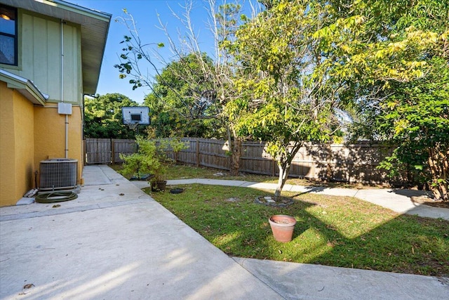
[[[34,106],[0,81],[0,206],[34,188]]]

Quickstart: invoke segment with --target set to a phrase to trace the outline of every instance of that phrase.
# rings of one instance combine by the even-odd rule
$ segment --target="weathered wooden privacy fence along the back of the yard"
[[[182,138],[188,148],[177,153],[167,152],[176,162],[196,167],[213,167],[229,170],[231,157],[227,141],[206,138]],[[265,143],[243,142],[239,171],[253,174],[279,175],[276,161],[264,150]],[[86,164],[122,162],[119,153],[136,150],[133,140],[86,139]],[[336,181],[382,183],[385,172],[377,169],[380,161],[389,154],[382,145],[359,143],[312,144],[307,143],[295,155],[290,176],[306,178],[331,178]]]

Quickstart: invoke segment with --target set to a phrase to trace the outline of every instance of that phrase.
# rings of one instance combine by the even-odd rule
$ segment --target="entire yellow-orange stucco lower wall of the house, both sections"
[[[83,169],[81,107],[68,116],[68,157]],[[0,81],[0,206],[15,205],[34,186],[41,160],[65,157],[65,115],[56,103],[34,106],[18,91]],[[39,187],[39,174],[37,184]]]

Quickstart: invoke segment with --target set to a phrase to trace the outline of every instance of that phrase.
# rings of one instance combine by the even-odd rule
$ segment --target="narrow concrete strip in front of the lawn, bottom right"
[[[448,299],[449,279],[234,258],[285,299]]]

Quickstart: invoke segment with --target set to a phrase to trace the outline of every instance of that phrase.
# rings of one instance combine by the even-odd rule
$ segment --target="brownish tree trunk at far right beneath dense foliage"
[[[432,174],[430,189],[436,199],[449,201],[449,149],[435,148],[429,149],[429,167]]]

